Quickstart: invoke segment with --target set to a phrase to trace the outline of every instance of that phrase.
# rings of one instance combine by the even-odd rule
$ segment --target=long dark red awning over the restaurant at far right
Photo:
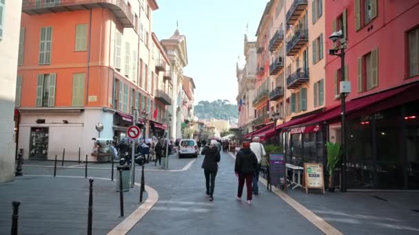
[[[381,110],[396,107],[400,104],[418,100],[418,90],[419,82],[416,82],[415,84],[407,85],[405,87],[398,87],[396,89],[375,93],[371,96],[365,96],[356,100],[349,100],[346,102],[347,117],[349,119],[350,117],[359,117],[360,115],[376,113]],[[280,125],[278,128],[315,124],[324,121],[328,122],[329,124],[333,124],[340,122],[341,111],[342,108],[339,105],[324,111],[323,113],[312,115],[307,118],[301,118],[300,122],[286,122],[285,126]]]

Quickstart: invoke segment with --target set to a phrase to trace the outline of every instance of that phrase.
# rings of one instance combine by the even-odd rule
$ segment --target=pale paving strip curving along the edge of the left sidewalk
[[[51,175],[23,175],[25,177],[53,177]],[[79,179],[85,179],[85,177],[78,177],[78,176],[57,176],[61,178],[79,178]],[[103,180],[110,180],[108,178],[102,178],[102,177],[88,177],[90,179],[103,179]],[[140,187],[140,183],[135,183],[135,186]],[[107,235],[124,235],[129,232],[136,223],[138,223],[147,212],[149,212],[154,204],[159,200],[159,193],[157,193],[154,188],[151,188],[149,186],[145,186],[145,191],[147,192],[147,200],[145,200],[144,203],[142,203],[139,208],[134,210],[127,218],[125,218],[121,223],[116,225],[110,232],[108,232]]]

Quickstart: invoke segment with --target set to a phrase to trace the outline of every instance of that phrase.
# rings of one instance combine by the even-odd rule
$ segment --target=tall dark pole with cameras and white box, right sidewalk
[[[340,183],[340,191],[346,192],[346,121],[345,121],[345,98],[347,96],[347,93],[351,92],[351,83],[348,81],[345,81],[345,48],[347,48],[346,39],[343,37],[342,30],[339,30],[338,32],[332,32],[329,36],[329,39],[332,42],[336,42],[339,40],[339,47],[334,49],[329,49],[329,54],[331,56],[339,56],[340,57],[340,101],[341,101],[341,107],[342,107],[342,113],[341,113],[341,122],[342,122],[342,131],[341,133],[341,146],[342,146],[342,166],[340,168],[340,175],[342,182]],[[340,53],[339,52],[340,49]]]

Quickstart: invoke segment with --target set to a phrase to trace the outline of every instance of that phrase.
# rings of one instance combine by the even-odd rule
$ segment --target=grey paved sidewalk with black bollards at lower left
[[[84,178],[23,176],[0,183],[0,234],[10,233],[12,201],[21,202],[20,234],[86,234],[88,197]],[[119,218],[116,182],[94,179],[93,234],[106,234],[139,206],[139,187],[124,192],[125,217]]]

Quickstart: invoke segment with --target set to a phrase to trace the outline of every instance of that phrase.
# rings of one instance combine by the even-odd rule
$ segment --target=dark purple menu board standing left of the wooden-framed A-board
[[[286,164],[287,161],[282,153],[269,155],[270,181],[274,186],[281,185],[281,178],[283,178],[283,184],[286,184]]]

